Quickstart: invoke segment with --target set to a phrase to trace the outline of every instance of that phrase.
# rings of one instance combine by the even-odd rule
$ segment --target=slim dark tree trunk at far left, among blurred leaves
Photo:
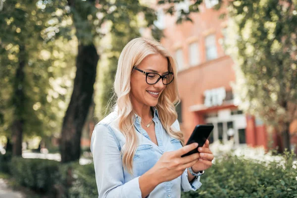
[[[14,110],[14,121],[12,122],[12,155],[22,156],[22,140],[24,130],[24,115],[23,108],[25,105],[25,91],[24,81],[25,72],[24,67],[26,64],[26,51],[25,46],[19,46],[19,67],[16,69],[15,82],[13,86],[13,97],[12,102],[15,107]]]

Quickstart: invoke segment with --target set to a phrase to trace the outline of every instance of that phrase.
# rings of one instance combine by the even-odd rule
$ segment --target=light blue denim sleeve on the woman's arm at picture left
[[[112,130],[96,125],[91,138],[99,198],[141,198],[139,177],[125,183],[120,145]]]

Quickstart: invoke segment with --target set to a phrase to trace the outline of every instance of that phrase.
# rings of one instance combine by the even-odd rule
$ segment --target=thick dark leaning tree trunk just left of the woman
[[[92,103],[98,60],[99,55],[93,43],[78,46],[73,93],[61,132],[62,163],[77,161],[80,158],[82,129]]]

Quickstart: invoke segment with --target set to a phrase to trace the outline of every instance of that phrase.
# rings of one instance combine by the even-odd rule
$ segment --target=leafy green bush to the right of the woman
[[[223,156],[201,176],[202,186],[182,198],[297,198],[293,158],[293,152],[282,162]]]

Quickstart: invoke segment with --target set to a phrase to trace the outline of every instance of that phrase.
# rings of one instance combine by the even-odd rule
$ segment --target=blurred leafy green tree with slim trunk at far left
[[[53,52],[64,50],[59,45],[63,41],[53,43],[48,35],[50,20],[62,20],[56,15],[61,6],[62,1],[9,0],[0,11],[0,132],[12,139],[7,142],[12,142],[14,155],[22,154],[24,136],[44,136],[57,130],[59,99],[67,92],[52,91],[57,86],[53,76],[63,75],[63,69],[54,64],[71,60],[54,57]]]

